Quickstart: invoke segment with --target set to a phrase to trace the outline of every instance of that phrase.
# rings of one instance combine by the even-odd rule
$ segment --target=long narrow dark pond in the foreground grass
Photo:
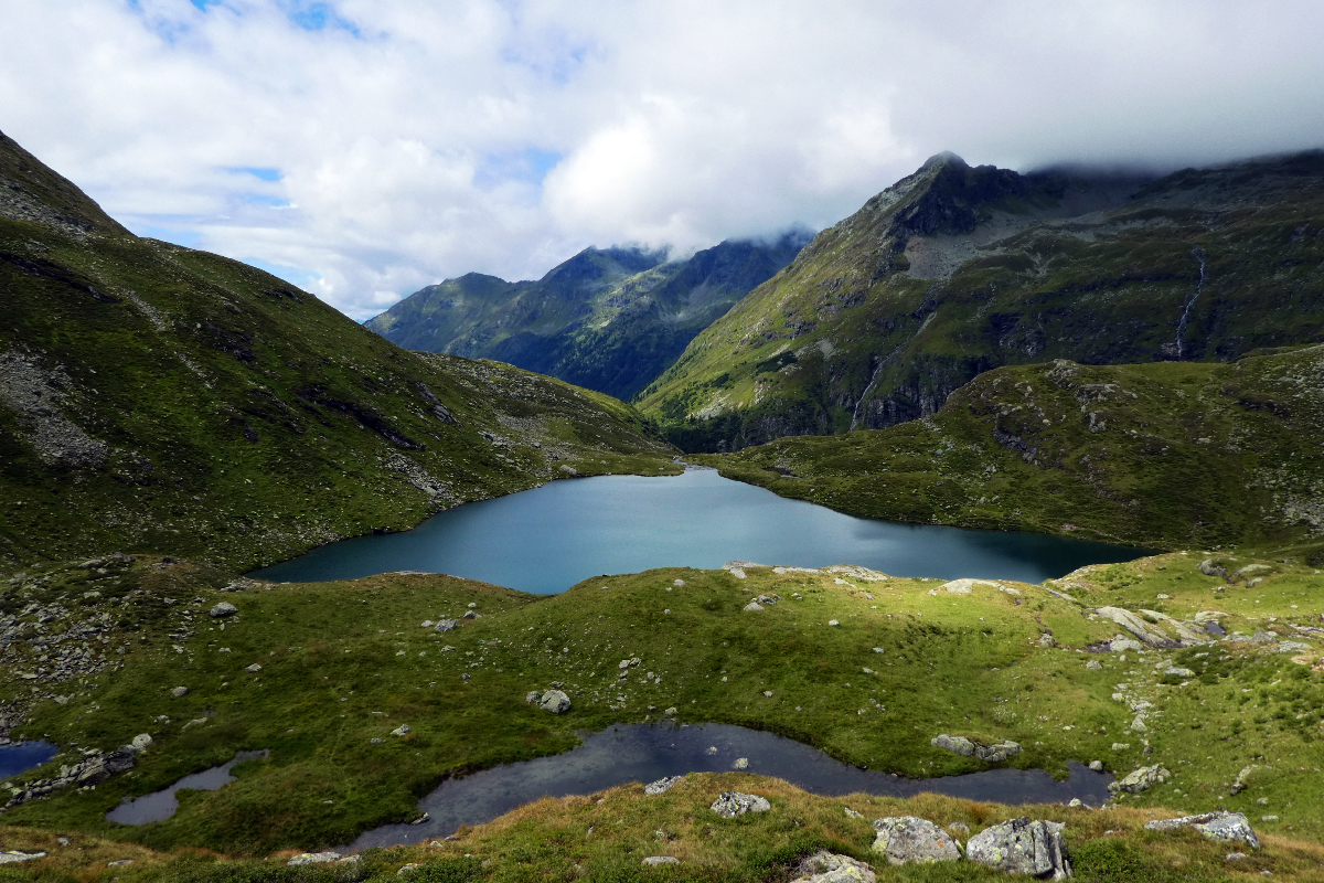
[[[715,749],[715,751],[714,751]],[[1112,776],[1070,764],[1071,777],[1054,781],[1042,769],[989,769],[965,776],[899,778],[833,760],[817,748],[773,733],[703,724],[621,724],[584,737],[563,755],[539,757],[451,778],[418,801],[430,818],[420,825],[384,825],[347,847],[417,843],[445,837],[461,825],[481,825],[540,797],[592,794],[626,782],[651,782],[691,772],[730,772],[740,757],[748,770],[784,778],[814,794],[863,792],[911,797],[935,792],[1000,804],[1066,804],[1072,797],[1091,806],[1108,801]],[[752,790],[759,790],[755,786]],[[714,794],[714,797],[716,797]],[[865,812],[863,806],[854,808]],[[873,821],[873,819],[869,819]]]

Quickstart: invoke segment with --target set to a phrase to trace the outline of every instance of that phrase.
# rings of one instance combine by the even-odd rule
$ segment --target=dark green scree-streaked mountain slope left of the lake
[[[229,567],[580,473],[673,469],[632,408],[406,352],[306,291],[138,238],[0,135],[0,561]]]

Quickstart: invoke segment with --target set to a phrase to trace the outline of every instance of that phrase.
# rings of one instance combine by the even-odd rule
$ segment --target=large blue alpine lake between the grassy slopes
[[[441,512],[402,534],[332,543],[250,576],[311,582],[428,571],[553,594],[605,573],[744,560],[1041,582],[1148,553],[1043,534],[854,518],[690,469],[667,478],[556,481]]]

